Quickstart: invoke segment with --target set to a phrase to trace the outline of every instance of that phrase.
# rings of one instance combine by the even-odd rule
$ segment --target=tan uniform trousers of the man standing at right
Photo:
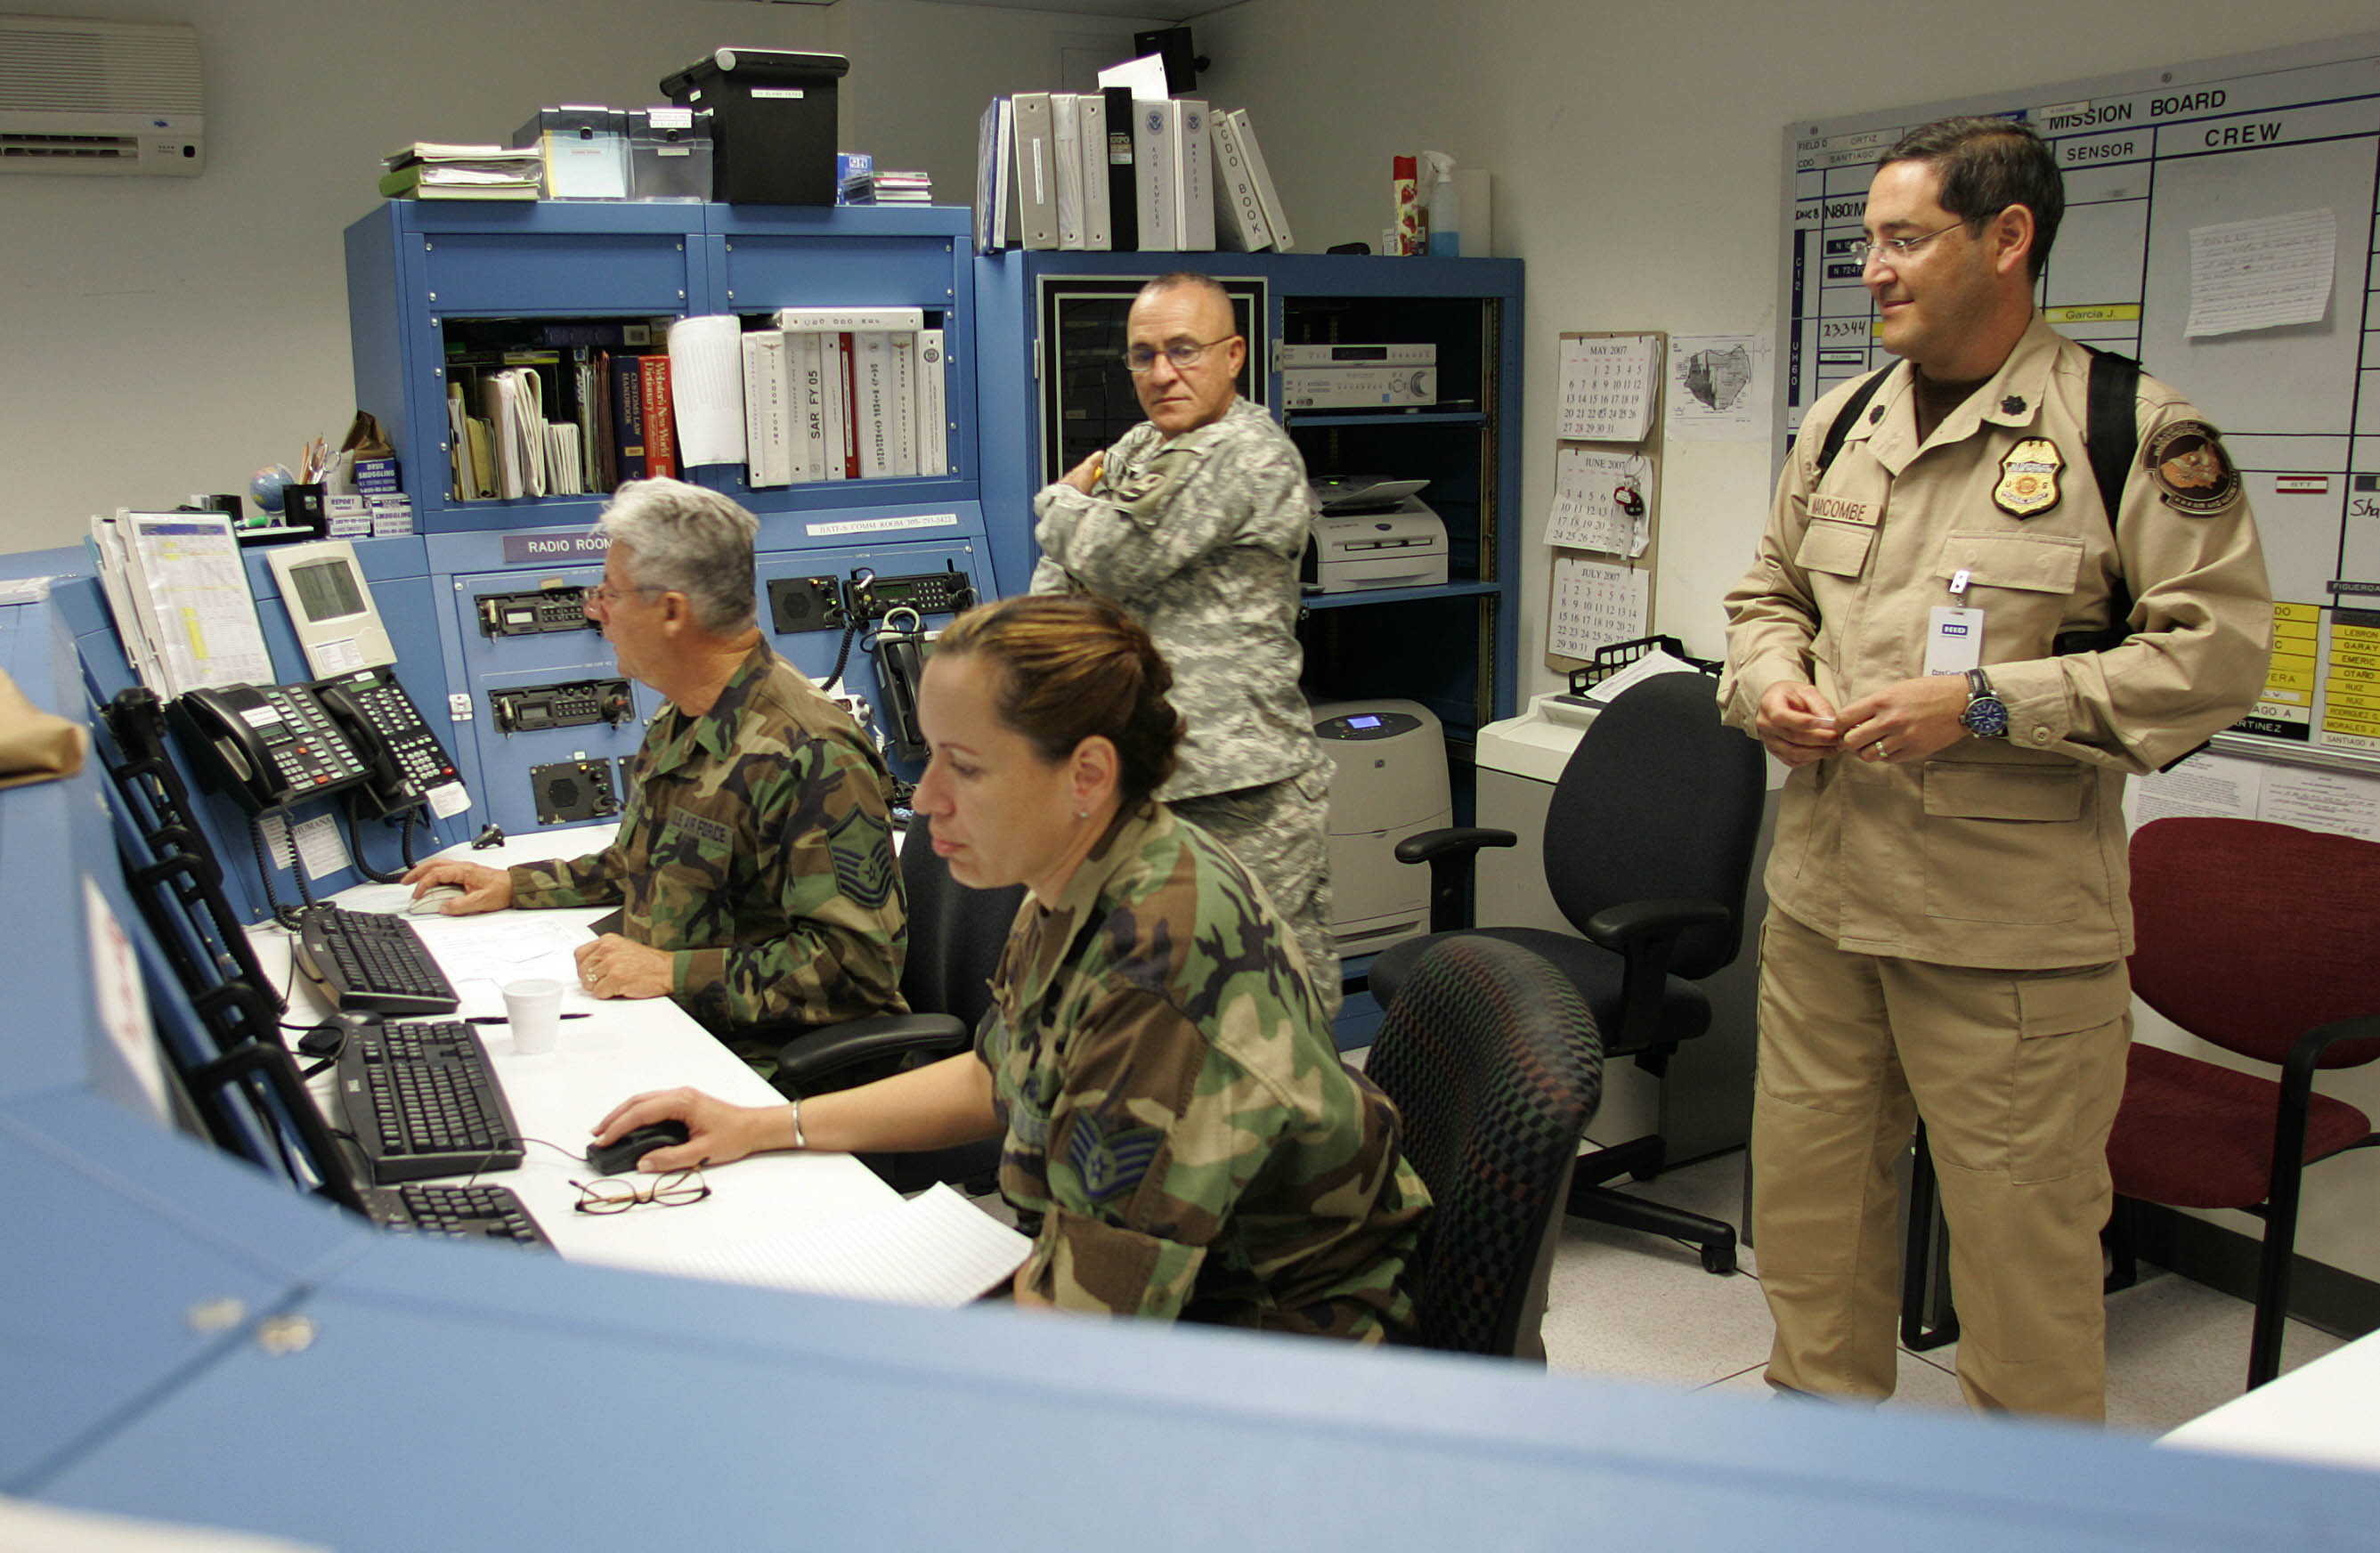
[[[1978,1410],[2106,1417],[2099,1229],[2130,1039],[2121,960],[2028,972],[1856,955],[1773,910],[1752,1112],[1768,1382],[1892,1396],[1894,1162],[1923,1117],[1959,1391]]]

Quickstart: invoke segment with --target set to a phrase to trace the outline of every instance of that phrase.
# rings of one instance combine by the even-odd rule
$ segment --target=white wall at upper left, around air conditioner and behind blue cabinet
[[[657,102],[719,45],[850,55],[843,145],[973,198],[992,93],[1147,21],[919,0],[29,0],[198,29],[198,179],[0,174],[0,553],[90,512],[245,491],[355,414],[340,233],[407,141],[509,141],[540,102]]]

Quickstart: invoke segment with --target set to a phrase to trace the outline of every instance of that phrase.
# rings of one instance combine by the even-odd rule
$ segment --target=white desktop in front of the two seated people
[[[569,831],[538,831],[536,836],[505,841],[502,848],[474,853],[455,848],[440,857],[486,862],[538,862],[543,857],[576,857],[609,838],[609,827],[581,827]],[[390,910],[409,896],[400,884],[362,884],[338,893],[338,903],[355,910]],[[502,927],[516,929],[566,929],[571,941],[585,941],[585,924],[605,910],[547,910],[547,912],[493,912],[486,917],[407,917],[421,929],[424,941],[443,965],[478,962],[481,955],[462,955],[450,948],[469,934],[490,934]],[[290,936],[278,927],[262,924],[248,929],[257,946],[257,960],[274,986],[290,981]],[[564,931],[555,931],[559,943]],[[450,948],[443,948],[450,946]],[[524,946],[526,948],[526,946]],[[674,1089],[690,1084],[721,1100],[738,1105],[771,1105],[781,1096],[743,1060],[721,1046],[707,1029],[695,1024],[685,1010],[669,998],[590,998],[578,986],[569,948],[555,948],[543,960],[521,960],[512,977],[555,977],[566,988],[564,1012],[585,1012],[585,1019],[564,1019],[562,1039],[552,1053],[521,1058],[512,1050],[512,1034],[502,1024],[476,1027],[488,1046],[488,1058],[505,1100],[526,1139],[559,1143],[569,1155],[540,1143],[526,1146],[521,1170],[481,1177],[509,1186],[536,1215],[552,1239],[555,1250],[571,1260],[631,1262],[638,1267],[666,1265],[676,1250],[695,1250],[728,1239],[762,1239],[812,1224],[854,1220],[881,1212],[900,1200],[876,1172],[852,1155],[802,1153],[757,1155],[707,1170],[704,1181],[712,1196],[688,1208],[631,1208],[628,1212],[583,1215],[574,1212],[578,1189],[571,1179],[595,1179],[583,1150],[595,1122],[614,1105],[647,1089]],[[455,1015],[469,1017],[502,1015],[505,998],[493,979],[455,977],[455,993],[462,1008]],[[321,993],[298,977],[290,991],[288,1024],[305,1024],[309,1017],[328,1012]],[[290,1036],[295,1039],[295,1034]],[[317,1098],[328,1093],[328,1074],[317,1079]],[[336,1108],[333,1108],[336,1117]]]

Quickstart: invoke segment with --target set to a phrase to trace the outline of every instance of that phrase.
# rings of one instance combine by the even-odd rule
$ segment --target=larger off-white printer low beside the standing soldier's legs
[[[1418,700],[1311,707],[1330,755],[1330,934],[1342,958],[1430,931],[1430,869],[1397,843],[1454,824],[1447,736]]]

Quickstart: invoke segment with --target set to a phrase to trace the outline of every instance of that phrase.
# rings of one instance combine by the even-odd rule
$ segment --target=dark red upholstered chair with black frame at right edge
[[[2156,819],[2132,836],[2132,991],[2280,1081],[2135,1041],[2106,1143],[2116,1191],[2263,1220],[2247,1384],[2280,1372],[2299,1172],[2380,1143],[2313,1093],[2380,1058],[2380,846],[2259,819]],[[2123,1203],[2118,1203],[2118,1217]]]

